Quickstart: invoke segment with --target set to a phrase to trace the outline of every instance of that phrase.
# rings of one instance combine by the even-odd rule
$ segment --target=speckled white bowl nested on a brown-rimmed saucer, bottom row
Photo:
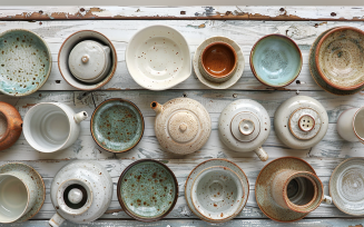
[[[190,194],[195,209],[206,220],[223,223],[239,214],[244,185],[232,169],[214,166],[197,175]]]

